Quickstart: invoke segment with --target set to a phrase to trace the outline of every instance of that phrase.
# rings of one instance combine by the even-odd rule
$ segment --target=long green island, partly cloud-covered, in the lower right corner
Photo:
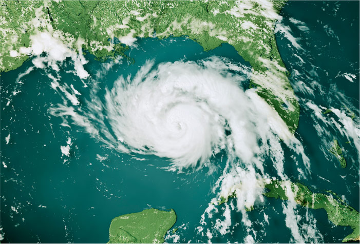
[[[347,205],[335,193],[330,192],[331,195],[313,193],[308,187],[289,180],[272,180],[265,187],[268,189],[268,192],[264,193],[267,197],[280,198],[282,200],[288,200],[293,197],[298,205],[311,209],[324,209],[329,220],[334,225],[351,227],[353,232],[347,235],[343,242],[360,240],[359,213]],[[289,196],[289,193],[292,196]]]

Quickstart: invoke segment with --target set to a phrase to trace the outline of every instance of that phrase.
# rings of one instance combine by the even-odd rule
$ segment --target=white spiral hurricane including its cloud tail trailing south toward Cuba
[[[48,74],[51,87],[64,101],[52,106],[50,114],[63,118],[63,126],[83,127],[120,153],[163,157],[169,161],[165,169],[179,173],[206,166],[211,174],[218,168],[212,157],[226,153],[226,165],[213,187],[216,197],[201,216],[199,231],[206,226],[205,218],[218,211],[218,199],[234,193],[242,222],[250,229],[245,210],[264,201],[266,180],[273,173],[288,179],[283,167],[285,147],[301,157],[306,172],[297,167],[300,177],[309,173],[309,158],[300,141],[256,89],[249,89],[248,80],[256,75],[249,68],[219,57],[158,65],[148,60],[136,75],[119,76],[104,93],[99,79],[107,77],[110,68],[104,64],[96,79],[89,80],[90,99],[83,103],[72,85],[60,84]],[[288,164],[298,164],[296,154]],[[272,165],[266,165],[269,159]],[[268,171],[269,167],[275,171]],[[213,226],[220,234],[231,226],[226,208],[225,219]]]

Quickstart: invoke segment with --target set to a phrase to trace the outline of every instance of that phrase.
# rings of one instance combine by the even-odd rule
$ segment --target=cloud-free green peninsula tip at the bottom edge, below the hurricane
[[[174,210],[145,209],[111,220],[108,243],[163,243],[176,221]]]

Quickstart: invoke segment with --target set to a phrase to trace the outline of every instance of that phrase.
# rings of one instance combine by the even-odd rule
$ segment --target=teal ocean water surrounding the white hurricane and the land
[[[358,128],[358,9],[356,1],[290,1],[276,27],[278,49],[300,104],[296,138],[310,160],[307,169],[301,157],[280,142],[283,172],[314,192],[335,192],[356,211],[360,197],[358,135],[351,140],[345,126],[335,124],[342,125],[339,121],[354,113]],[[166,235],[167,242],[207,242],[209,235],[218,243],[244,242],[249,235],[255,242],[296,241],[286,222],[290,215],[279,199],[266,198],[247,212],[251,227],[244,224],[243,213],[236,211],[236,199],[226,207],[217,207],[212,217],[205,214],[217,196],[213,188],[226,167],[225,151],[211,157],[213,167],[179,172],[169,168],[169,159],[163,157],[121,153],[109,147],[105,139],[92,137],[88,127],[74,123],[70,115],[53,110],[59,104],[67,108],[72,105],[64,91],[53,89],[49,74],[61,77],[59,87],[81,93],[77,96],[80,109],[74,112],[87,116],[89,124],[98,125],[102,116],[106,117],[105,108],[94,112],[89,104],[105,103],[106,89],[113,88],[121,75],[136,76],[149,59],[156,67],[164,62],[223,57],[242,67],[241,86],[248,87],[250,64],[228,44],[207,52],[185,37],[143,38],[137,45],[126,53],[129,58],[119,63],[99,62],[85,55],[89,62],[84,67],[91,77],[87,87],[72,72],[70,59],[59,73],[36,68],[27,73],[33,67],[28,60],[20,68],[1,74],[2,242],[107,242],[112,218],[150,207],[174,209],[177,214],[174,228],[179,229],[175,235]],[[97,93],[92,92],[95,88]],[[317,116],[316,108],[323,112],[339,109],[345,117],[335,113]],[[112,133],[111,123],[104,119],[102,126],[108,130],[100,130],[99,138],[107,138],[103,134]],[[344,149],[345,169],[328,152],[333,139]],[[268,176],[278,177],[270,158],[263,158],[263,167]],[[310,173],[301,173],[308,170]],[[299,216],[297,225],[305,242],[339,242],[351,233],[349,227],[329,222],[324,210],[297,207],[293,211]],[[229,213],[231,227],[222,233],[220,227]],[[205,224],[201,224],[202,215]]]

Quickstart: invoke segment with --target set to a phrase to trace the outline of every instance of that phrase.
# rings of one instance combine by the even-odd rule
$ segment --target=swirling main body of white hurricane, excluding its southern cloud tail
[[[86,109],[72,103],[50,113],[70,115],[112,148],[166,157],[179,169],[202,166],[221,150],[261,168],[257,158],[271,150],[268,141],[293,145],[294,138],[255,89],[243,89],[249,75],[246,67],[219,57],[158,66],[148,61],[134,77],[120,76],[104,102],[93,92]]]

